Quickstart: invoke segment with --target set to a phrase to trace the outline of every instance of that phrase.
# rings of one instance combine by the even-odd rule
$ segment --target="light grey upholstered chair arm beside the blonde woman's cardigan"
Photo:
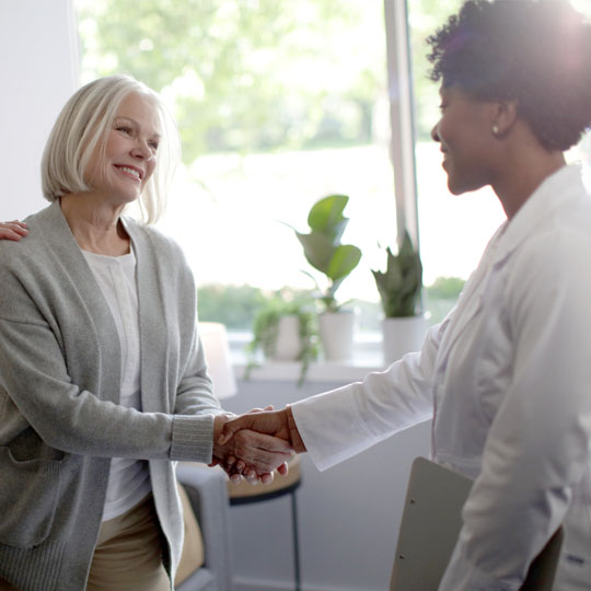
[[[179,462],[176,477],[187,494],[204,544],[204,565],[177,586],[176,591],[230,591],[232,568],[225,474]]]

